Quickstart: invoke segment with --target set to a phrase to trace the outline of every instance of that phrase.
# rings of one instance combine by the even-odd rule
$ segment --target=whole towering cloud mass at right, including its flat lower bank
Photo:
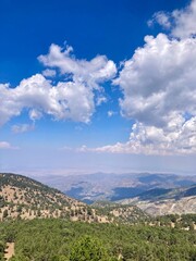
[[[196,152],[196,39],[146,36],[113,82],[123,116],[134,120],[126,144],[97,148],[123,153]]]

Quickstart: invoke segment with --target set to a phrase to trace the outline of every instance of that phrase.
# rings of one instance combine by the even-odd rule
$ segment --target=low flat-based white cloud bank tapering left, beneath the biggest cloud
[[[177,121],[176,121],[177,122]],[[132,154],[191,154],[196,153],[196,117],[176,123],[173,132],[136,123],[125,144],[103,146],[86,151]]]

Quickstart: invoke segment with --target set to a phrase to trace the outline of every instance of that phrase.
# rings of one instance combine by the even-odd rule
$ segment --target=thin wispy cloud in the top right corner
[[[177,38],[196,36],[196,0],[192,0],[185,9],[174,10],[171,13],[162,11],[155,13],[148,25],[155,23],[166,29],[170,28],[171,35]]]

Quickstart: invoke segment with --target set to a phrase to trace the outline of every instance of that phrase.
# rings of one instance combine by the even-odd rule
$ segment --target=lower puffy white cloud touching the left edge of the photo
[[[52,86],[42,75],[36,74],[23,79],[15,88],[0,86],[3,96],[0,115],[1,125],[12,116],[29,110],[32,120],[42,114],[54,120],[89,122],[95,110],[94,92],[83,84],[73,82],[58,83]]]

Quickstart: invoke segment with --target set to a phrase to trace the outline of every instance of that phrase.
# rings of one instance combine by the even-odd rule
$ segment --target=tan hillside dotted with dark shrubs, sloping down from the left
[[[133,206],[105,207],[89,207],[29,177],[0,173],[1,221],[66,217],[71,221],[111,223],[136,221],[147,216],[142,210]]]

